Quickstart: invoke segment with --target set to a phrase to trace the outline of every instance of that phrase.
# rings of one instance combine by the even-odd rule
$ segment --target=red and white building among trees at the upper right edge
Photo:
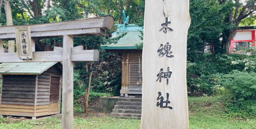
[[[232,39],[230,44],[230,50],[234,48],[249,48],[255,47],[255,28],[254,26],[239,27],[241,30],[237,30],[236,36]]]

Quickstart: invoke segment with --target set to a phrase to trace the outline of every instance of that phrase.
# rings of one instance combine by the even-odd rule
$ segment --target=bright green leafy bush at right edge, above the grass
[[[230,89],[239,101],[256,100],[256,73],[232,70],[221,78],[221,84]]]

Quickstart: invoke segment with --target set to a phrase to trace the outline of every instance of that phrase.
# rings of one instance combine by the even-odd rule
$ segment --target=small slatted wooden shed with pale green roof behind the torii
[[[45,116],[60,113],[60,62],[2,63],[0,115]]]

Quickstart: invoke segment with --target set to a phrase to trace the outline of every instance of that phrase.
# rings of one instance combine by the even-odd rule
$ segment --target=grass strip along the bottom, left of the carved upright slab
[[[61,129],[60,118],[47,118],[45,120],[8,122],[0,118],[0,129]],[[111,116],[100,118],[74,119],[74,129],[139,129],[141,121],[138,119],[123,119]]]

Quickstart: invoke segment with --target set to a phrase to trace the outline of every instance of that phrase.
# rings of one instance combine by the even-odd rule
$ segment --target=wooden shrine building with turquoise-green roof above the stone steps
[[[112,38],[120,36],[127,32],[127,34],[118,40],[117,44],[109,44],[101,46],[106,52],[117,52],[122,57],[122,82],[121,82],[121,96],[128,97],[128,95],[142,94],[142,50],[138,50],[135,44],[143,43],[141,32],[142,27],[135,24],[115,24],[117,25],[117,32],[112,34]],[[123,27],[125,25],[125,27]]]

